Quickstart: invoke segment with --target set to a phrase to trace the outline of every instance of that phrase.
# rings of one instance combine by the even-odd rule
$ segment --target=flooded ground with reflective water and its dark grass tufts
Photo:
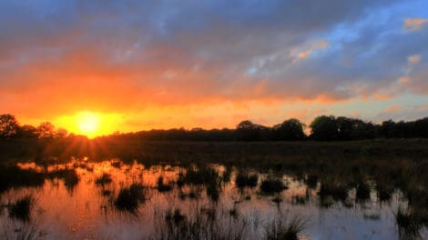
[[[403,191],[370,176],[330,181],[235,165],[87,157],[2,171],[15,180],[0,187],[1,239],[428,237]]]

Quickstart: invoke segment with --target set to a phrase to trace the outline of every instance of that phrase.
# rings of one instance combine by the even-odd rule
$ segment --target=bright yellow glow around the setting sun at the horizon
[[[82,111],[75,115],[60,116],[54,124],[66,128],[70,133],[94,138],[99,135],[110,135],[120,130],[117,127],[121,125],[121,122],[122,117],[117,114]]]

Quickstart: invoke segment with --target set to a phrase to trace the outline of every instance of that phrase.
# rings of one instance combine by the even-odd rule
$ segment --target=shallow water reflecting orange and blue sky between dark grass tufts
[[[125,165],[118,160],[100,163],[72,161],[67,165],[19,164],[25,169],[54,172],[58,169],[75,169],[79,181],[66,185],[61,178],[45,180],[41,187],[9,189],[0,196],[3,205],[0,215],[2,238],[33,234],[35,239],[158,239],[161,235],[177,233],[177,221],[168,225],[168,212],[179,209],[180,215],[189,222],[202,224],[199,228],[211,228],[212,233],[241,236],[241,239],[263,239],[273,223],[280,220],[290,223],[299,218],[304,228],[301,239],[398,239],[395,215],[398,208],[405,209],[407,200],[395,191],[388,202],[380,202],[372,188],[370,197],[357,199],[351,189],[344,201],[335,201],[331,195],[322,197],[321,184],[311,188],[302,180],[290,175],[280,175],[289,188],[279,194],[260,192],[260,182],[270,174],[258,173],[259,185],[239,189],[235,185],[237,169],[230,172],[225,181],[226,168],[211,165],[219,174],[219,198],[207,195],[207,185],[185,184],[178,187],[179,174],[185,168],[156,165],[149,168],[138,163]],[[104,173],[111,176],[111,183],[97,185],[97,178]],[[165,185],[172,190],[158,190],[158,177],[163,176]],[[115,201],[121,188],[131,184],[144,186],[144,201],[135,211],[119,210]],[[10,217],[7,205],[24,195],[35,199],[30,221]],[[175,220],[176,218],[174,218]],[[427,237],[426,227],[420,230]],[[217,233],[219,234],[219,233]],[[164,237],[165,238],[165,237]],[[208,237],[209,238],[209,237]]]

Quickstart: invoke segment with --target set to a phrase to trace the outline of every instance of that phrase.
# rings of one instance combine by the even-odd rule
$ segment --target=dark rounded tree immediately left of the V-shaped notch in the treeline
[[[298,119],[291,118],[282,122],[280,125],[273,126],[275,140],[299,140],[306,137],[303,132],[305,125]]]

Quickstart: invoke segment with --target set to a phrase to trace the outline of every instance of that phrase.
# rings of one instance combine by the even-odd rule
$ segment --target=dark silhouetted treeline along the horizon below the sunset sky
[[[428,117],[410,121],[384,121],[381,125],[345,116],[320,115],[315,117],[309,127],[311,134],[304,132],[306,125],[291,118],[279,125],[264,126],[250,120],[240,122],[235,129],[174,128],[168,130],[149,130],[135,133],[101,136],[103,138],[126,138],[152,141],[294,141],[313,139],[318,141],[346,141],[373,138],[427,138]],[[56,129],[49,122],[38,126],[19,125],[14,115],[0,115],[0,138],[72,138],[66,129]],[[82,137],[81,135],[78,137]]]

